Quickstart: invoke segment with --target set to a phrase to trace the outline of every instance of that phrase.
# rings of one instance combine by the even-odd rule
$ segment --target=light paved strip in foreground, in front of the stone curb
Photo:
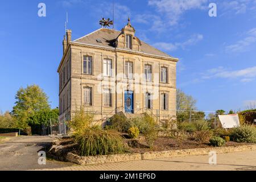
[[[217,155],[217,165],[208,163],[208,155],[186,156],[155,160],[138,160],[93,166],[76,166],[57,169],[61,171],[256,171],[256,151],[232,152]]]

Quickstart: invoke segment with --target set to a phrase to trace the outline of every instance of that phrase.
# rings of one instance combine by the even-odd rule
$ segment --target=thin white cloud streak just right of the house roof
[[[154,47],[162,49],[163,51],[175,51],[178,48],[185,49],[188,46],[193,46],[197,42],[200,42],[203,40],[204,36],[201,34],[195,34],[192,35],[190,39],[185,40],[184,42],[181,43],[165,43],[165,42],[158,42],[153,44]]]

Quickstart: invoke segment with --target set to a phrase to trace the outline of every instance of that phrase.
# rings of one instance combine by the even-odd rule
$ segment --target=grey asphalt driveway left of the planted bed
[[[71,163],[47,160],[46,165],[38,164],[38,151],[44,150],[51,137],[16,137],[0,143],[0,170],[31,170],[73,166]]]

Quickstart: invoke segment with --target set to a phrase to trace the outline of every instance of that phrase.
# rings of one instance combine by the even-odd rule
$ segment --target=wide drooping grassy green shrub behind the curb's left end
[[[77,151],[80,156],[123,154],[125,147],[122,137],[113,130],[101,130],[97,127],[86,129],[77,134]]]

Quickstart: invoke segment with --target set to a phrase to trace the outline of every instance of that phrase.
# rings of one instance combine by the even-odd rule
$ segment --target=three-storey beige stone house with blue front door
[[[73,41],[71,34],[57,69],[60,121],[81,105],[102,123],[119,112],[176,118],[178,59],[137,38],[130,20],[121,31],[100,28]]]

